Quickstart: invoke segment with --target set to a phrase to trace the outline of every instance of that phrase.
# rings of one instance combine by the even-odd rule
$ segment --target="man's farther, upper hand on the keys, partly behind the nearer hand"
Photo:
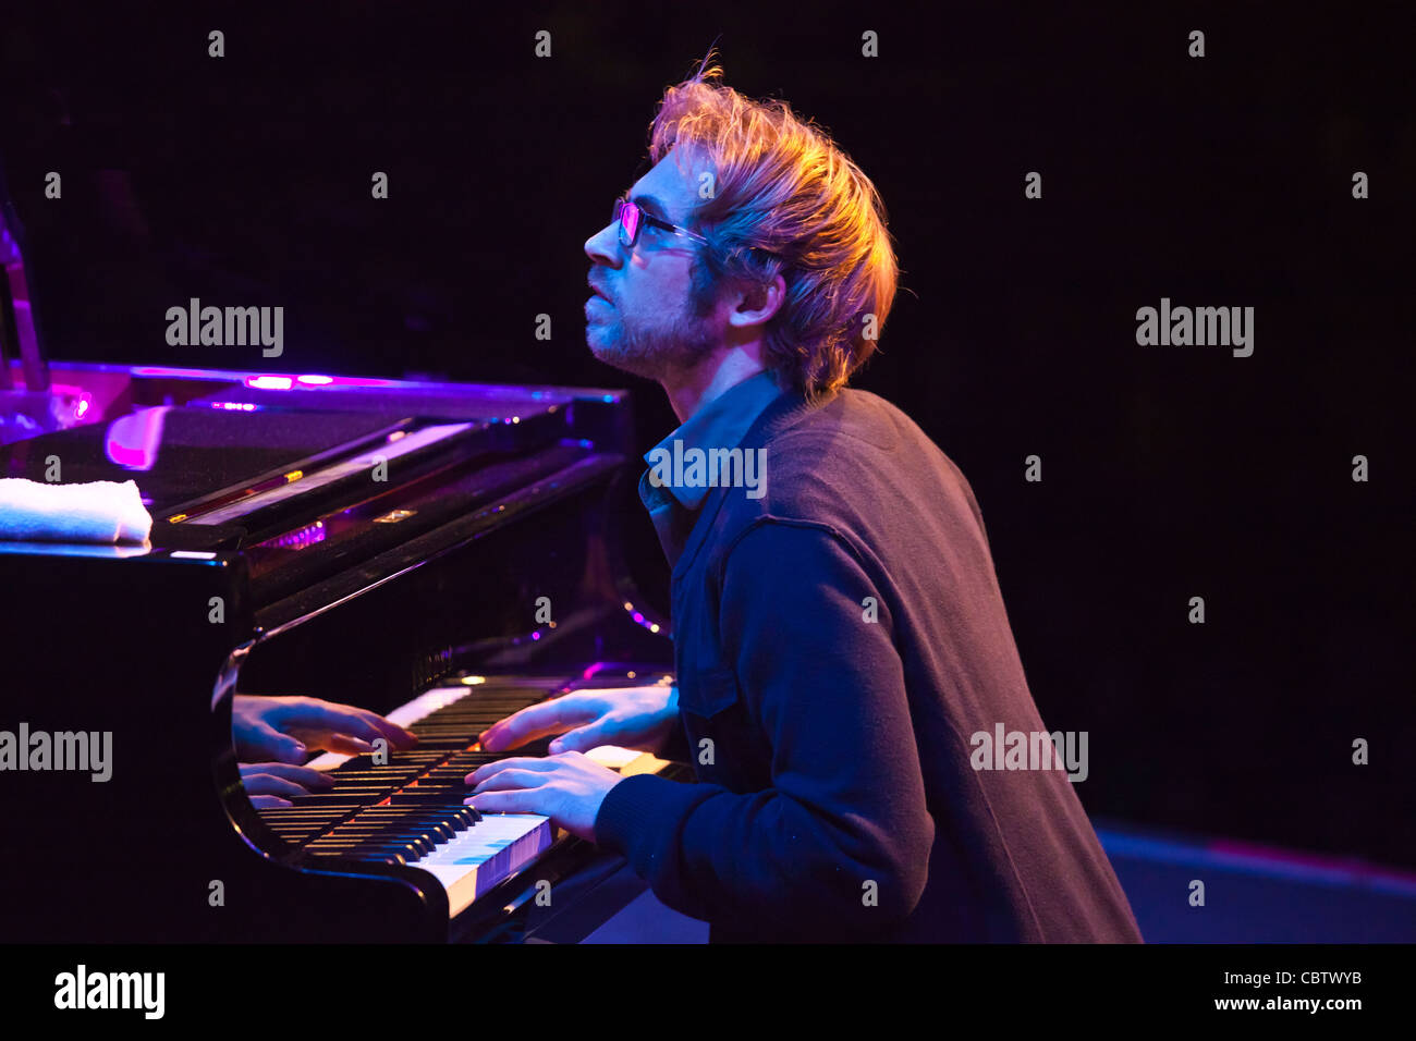
[[[602,687],[523,708],[489,727],[480,741],[489,752],[501,752],[562,734],[551,742],[552,753],[588,752],[599,745],[657,752],[677,725],[677,687]]]

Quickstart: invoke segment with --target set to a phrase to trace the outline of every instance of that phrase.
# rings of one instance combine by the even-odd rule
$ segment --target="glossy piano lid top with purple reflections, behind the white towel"
[[[120,380],[122,399],[136,406],[95,405],[76,426],[0,445],[0,476],[54,480],[57,462],[64,483],[135,480],[163,523],[153,531],[154,545],[167,544],[169,524],[212,528],[205,538],[221,541],[222,525],[251,530],[283,503],[365,486],[381,463],[389,479],[406,480],[453,462],[561,442],[589,448],[592,436],[613,446],[624,397],[391,380],[347,381],[367,387],[340,380],[285,394],[262,382],[272,377],[238,372],[55,371],[61,380]],[[173,402],[174,389],[177,404],[143,404]],[[202,538],[191,533],[177,542],[190,547]]]

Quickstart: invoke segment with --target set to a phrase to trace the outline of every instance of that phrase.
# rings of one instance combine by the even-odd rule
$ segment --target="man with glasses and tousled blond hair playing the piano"
[[[714,940],[1140,940],[1068,775],[977,753],[1000,725],[1045,728],[973,491],[899,409],[845,389],[896,286],[879,197],[787,105],[707,67],[666,93],[654,167],[585,244],[590,350],[683,422],[640,482],[678,684],[496,724],[494,751],[562,736],[469,775],[469,802],[623,853]],[[722,469],[674,463],[695,457]],[[602,744],[698,783],[622,779],[582,755]]]

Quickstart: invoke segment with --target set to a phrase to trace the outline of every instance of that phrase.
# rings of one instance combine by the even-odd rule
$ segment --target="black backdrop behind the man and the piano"
[[[582,244],[718,40],[886,201],[902,290],[855,382],[971,482],[1087,810],[1416,865],[1403,6],[416,8],[16,11],[0,154],[51,355],[630,385],[647,449],[677,422],[586,351]],[[169,347],[191,296],[285,306],[285,355]],[[1163,296],[1253,306],[1253,355],[1138,347]]]

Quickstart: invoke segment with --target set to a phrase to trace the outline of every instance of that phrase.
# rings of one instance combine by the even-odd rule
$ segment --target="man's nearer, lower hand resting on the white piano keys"
[[[602,742],[603,744],[603,742]],[[538,813],[573,836],[595,841],[595,816],[623,778],[579,752],[548,759],[518,756],[479,766],[463,802],[483,813]]]

